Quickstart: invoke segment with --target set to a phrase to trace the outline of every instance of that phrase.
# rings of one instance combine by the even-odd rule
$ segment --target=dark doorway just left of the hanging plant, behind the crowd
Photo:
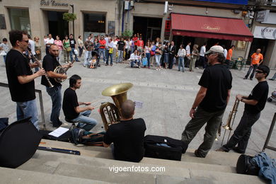
[[[60,40],[63,40],[65,35],[69,35],[69,23],[63,20],[64,12],[47,11],[49,33],[52,38],[59,35]]]

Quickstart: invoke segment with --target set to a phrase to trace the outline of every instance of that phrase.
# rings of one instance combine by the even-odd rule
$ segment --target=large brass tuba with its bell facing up
[[[100,117],[102,117],[105,131],[108,130],[108,126],[120,121],[121,117],[121,105],[127,100],[127,91],[132,88],[131,83],[115,84],[102,92],[103,96],[111,96],[113,103],[103,103],[100,105]],[[106,116],[108,117],[106,117]]]

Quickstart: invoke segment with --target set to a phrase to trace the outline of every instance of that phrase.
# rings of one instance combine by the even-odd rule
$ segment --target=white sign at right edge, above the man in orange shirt
[[[254,38],[276,40],[276,28],[256,26],[254,30]]]

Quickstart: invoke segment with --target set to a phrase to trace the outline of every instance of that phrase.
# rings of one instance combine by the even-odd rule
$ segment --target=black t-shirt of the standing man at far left
[[[8,88],[11,92],[11,100],[14,102],[25,102],[35,99],[35,81],[20,84],[18,76],[32,75],[29,60],[18,50],[10,50],[6,54],[6,75]]]

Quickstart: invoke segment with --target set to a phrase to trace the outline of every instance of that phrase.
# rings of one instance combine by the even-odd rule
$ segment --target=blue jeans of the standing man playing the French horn
[[[52,99],[51,122],[54,127],[59,127],[62,122],[59,120],[60,109],[62,108],[62,86],[46,87],[48,95]]]

